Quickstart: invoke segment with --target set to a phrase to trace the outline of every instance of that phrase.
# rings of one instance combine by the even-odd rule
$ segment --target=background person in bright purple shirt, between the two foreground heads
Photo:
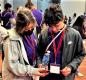
[[[32,11],[34,17],[36,18],[37,26],[36,26],[35,34],[38,38],[39,35],[40,35],[40,32],[41,32],[41,24],[42,24],[42,19],[43,19],[43,13],[39,9],[37,9],[36,6],[31,1],[28,1],[25,4],[25,7],[30,9]]]

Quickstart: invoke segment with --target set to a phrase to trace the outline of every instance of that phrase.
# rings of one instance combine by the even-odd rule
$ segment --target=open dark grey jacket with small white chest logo
[[[39,38],[38,51],[42,59],[45,49],[48,43],[47,30],[43,31]],[[73,80],[76,70],[80,63],[82,62],[85,53],[83,51],[82,38],[78,31],[73,28],[67,27],[65,30],[65,35],[63,39],[63,51],[62,51],[62,65],[61,68],[70,66],[72,72],[69,76],[65,77],[63,80]]]

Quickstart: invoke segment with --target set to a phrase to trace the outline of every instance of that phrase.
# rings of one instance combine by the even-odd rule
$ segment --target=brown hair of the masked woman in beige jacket
[[[16,17],[16,31],[20,33],[21,30],[31,22],[34,24],[36,23],[32,12],[26,8],[20,9]]]

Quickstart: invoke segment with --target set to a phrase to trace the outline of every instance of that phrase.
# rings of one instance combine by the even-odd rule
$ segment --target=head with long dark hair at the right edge
[[[77,17],[75,23],[73,24],[73,28],[79,31],[82,39],[86,39],[86,17],[84,15]]]

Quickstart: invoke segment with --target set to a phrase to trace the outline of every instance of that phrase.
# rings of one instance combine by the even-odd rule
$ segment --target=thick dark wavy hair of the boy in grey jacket
[[[63,12],[60,4],[52,4],[45,10],[44,23],[47,25],[55,25],[63,18]]]

